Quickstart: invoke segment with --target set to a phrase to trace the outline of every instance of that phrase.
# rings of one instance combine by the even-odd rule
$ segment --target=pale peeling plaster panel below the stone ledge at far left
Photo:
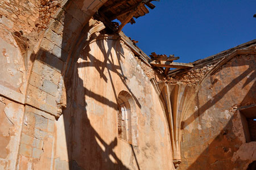
[[[0,169],[15,169],[24,107],[0,96]]]

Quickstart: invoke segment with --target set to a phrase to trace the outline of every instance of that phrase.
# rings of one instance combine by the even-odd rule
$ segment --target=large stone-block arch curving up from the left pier
[[[91,18],[105,2],[106,0],[62,1],[60,5],[56,6],[56,14],[48,20],[49,24],[46,28],[43,28],[42,37],[40,37],[35,50],[36,56],[33,59],[30,58],[33,61],[30,76],[40,76],[40,81],[36,87],[28,86],[26,89],[28,97],[25,97],[25,103],[51,113],[56,118],[62,114],[62,110],[67,104],[66,91],[69,88],[69,84],[66,83],[68,82],[66,73],[69,66],[72,66],[75,56],[73,52],[83,42],[81,40],[84,37],[87,41],[88,35],[93,34],[90,29],[96,24],[96,21]],[[56,78],[53,79],[47,73],[52,73]],[[32,80],[29,79],[28,84],[32,84]],[[49,84],[53,87],[52,90],[44,88]],[[46,100],[43,100],[42,106],[42,103],[35,102],[34,94],[30,94],[30,91],[36,95],[42,92],[49,94],[56,102],[47,103],[44,102]]]

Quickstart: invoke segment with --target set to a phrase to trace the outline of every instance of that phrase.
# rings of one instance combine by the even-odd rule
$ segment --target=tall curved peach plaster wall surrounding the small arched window
[[[99,37],[73,63],[67,109],[56,121],[56,165],[69,160],[81,169],[174,169],[166,120],[149,78],[122,42]],[[137,146],[118,138],[117,96],[123,90],[136,103]]]

